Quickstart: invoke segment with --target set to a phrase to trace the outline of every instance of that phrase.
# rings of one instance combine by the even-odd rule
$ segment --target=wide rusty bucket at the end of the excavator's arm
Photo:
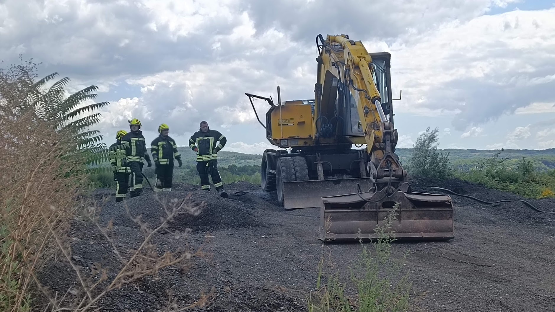
[[[453,204],[451,197],[429,193],[397,191],[387,197],[380,192],[326,196],[320,206],[320,240],[344,241],[378,238],[391,209],[398,203],[396,220],[386,232],[397,241],[452,239]]]

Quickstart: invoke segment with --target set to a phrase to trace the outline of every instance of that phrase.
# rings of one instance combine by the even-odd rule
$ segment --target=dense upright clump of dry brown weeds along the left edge
[[[56,252],[52,229],[67,230],[75,193],[88,179],[79,155],[69,156],[72,136],[28,109],[36,98],[31,76],[0,71],[2,311],[30,309],[33,272]]]

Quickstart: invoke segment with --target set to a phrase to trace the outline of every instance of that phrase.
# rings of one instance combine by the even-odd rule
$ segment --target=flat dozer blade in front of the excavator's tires
[[[357,183],[362,190],[369,190],[372,187],[369,178],[284,182],[283,207],[285,209],[320,207],[322,197],[353,193],[357,190]]]

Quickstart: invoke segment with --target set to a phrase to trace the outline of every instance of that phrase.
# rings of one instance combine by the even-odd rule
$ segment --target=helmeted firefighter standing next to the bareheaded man
[[[177,151],[175,140],[169,136],[170,127],[162,124],[158,127],[158,137],[150,143],[150,152],[154,160],[156,173],[155,192],[171,191],[171,181],[173,180],[174,158],[183,166],[181,155]]]

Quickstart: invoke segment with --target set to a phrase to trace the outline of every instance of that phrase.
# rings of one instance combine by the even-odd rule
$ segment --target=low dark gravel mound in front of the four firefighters
[[[168,224],[169,231],[187,232],[190,229],[191,232],[198,233],[264,226],[264,223],[254,216],[255,207],[250,204],[219,197],[215,190],[202,191],[198,186],[181,183],[175,183],[170,192],[155,193],[145,190],[142,196],[127,197],[124,202],[115,202],[114,197],[111,197],[110,202],[104,204],[100,222],[107,224],[113,219],[114,226],[139,228],[139,224],[133,221],[133,218],[140,217],[140,222],[147,223],[149,228],[155,228],[162,224],[162,218],[167,217],[164,207],[171,211],[189,195],[188,202],[192,207],[185,204],[180,209],[181,213]]]

